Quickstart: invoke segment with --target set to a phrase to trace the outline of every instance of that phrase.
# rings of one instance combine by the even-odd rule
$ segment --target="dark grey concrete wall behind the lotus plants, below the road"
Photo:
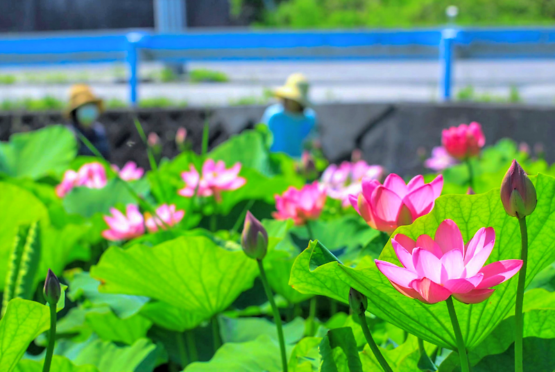
[[[210,147],[230,135],[253,127],[264,112],[262,106],[218,107],[213,109],[114,110],[104,114],[112,143],[112,161],[122,164],[133,159],[148,168],[144,145],[133,117],[137,115],[145,132],[156,132],[163,142],[163,154],[177,153],[173,143],[178,127],[184,126],[194,148],[200,150],[203,125],[210,124]],[[555,161],[555,107],[495,105],[477,103],[394,103],[333,104],[316,107],[323,150],[332,161],[349,159],[355,148],[372,163],[383,164],[391,172],[411,175],[422,172],[419,148],[429,151],[441,143],[441,130],[451,125],[478,121],[484,127],[487,144],[504,137],[529,145],[543,143],[546,159]],[[61,123],[57,112],[0,114],[0,140],[12,132]]]

